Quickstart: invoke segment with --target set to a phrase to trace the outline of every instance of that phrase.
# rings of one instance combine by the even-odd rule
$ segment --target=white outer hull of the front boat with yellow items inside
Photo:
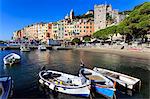
[[[71,77],[71,78],[77,77],[77,76],[73,76],[73,75],[69,75],[65,73],[61,73],[61,74],[64,76]],[[39,82],[53,91],[64,93],[64,94],[69,94],[69,95],[81,96],[81,97],[89,97],[90,95],[90,82],[88,81],[86,81],[83,85],[68,86],[68,85],[60,84],[60,82],[58,83],[58,81],[52,82],[51,80],[50,81],[46,80],[41,75],[42,75],[42,72],[39,73],[39,76],[40,76]]]

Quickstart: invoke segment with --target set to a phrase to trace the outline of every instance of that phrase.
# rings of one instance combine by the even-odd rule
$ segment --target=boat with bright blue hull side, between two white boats
[[[105,96],[106,98],[114,97],[114,83],[105,76],[87,68],[81,68],[79,71],[79,76],[90,80],[92,87],[97,93]]]

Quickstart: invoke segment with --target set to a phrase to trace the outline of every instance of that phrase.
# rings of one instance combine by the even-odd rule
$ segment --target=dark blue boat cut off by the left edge
[[[8,99],[12,94],[13,81],[11,77],[0,77],[0,99]]]

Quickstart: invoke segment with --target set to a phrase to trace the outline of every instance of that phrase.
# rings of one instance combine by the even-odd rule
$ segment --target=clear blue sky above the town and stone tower
[[[83,14],[105,1],[124,11],[150,0],[0,0],[0,40],[10,40],[13,31],[26,25],[63,19],[71,9]]]

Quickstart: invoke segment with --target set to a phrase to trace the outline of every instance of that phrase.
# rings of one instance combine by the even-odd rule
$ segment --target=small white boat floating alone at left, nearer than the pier
[[[21,57],[18,54],[10,53],[3,58],[5,65],[13,65],[20,62]]]

